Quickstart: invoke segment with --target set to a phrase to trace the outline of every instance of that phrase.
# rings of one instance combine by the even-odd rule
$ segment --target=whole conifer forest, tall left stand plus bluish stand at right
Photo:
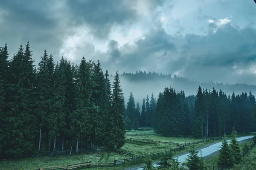
[[[64,150],[125,144],[125,130],[154,127],[162,136],[222,136],[233,127],[255,130],[251,92],[227,95],[198,88],[196,95],[166,87],[143,104],[130,93],[125,107],[119,74],[114,81],[100,62],[82,57],[76,65],[45,50],[37,66],[29,42],[9,59],[0,48],[0,157],[31,156],[42,150]],[[70,151],[71,154],[71,151]]]

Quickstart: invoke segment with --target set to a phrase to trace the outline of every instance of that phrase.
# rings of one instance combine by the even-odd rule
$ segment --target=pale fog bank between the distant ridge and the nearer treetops
[[[113,82],[113,77],[111,76],[111,82]],[[186,81],[186,82],[185,82]],[[142,106],[143,97],[151,98],[151,94],[154,94],[154,97],[157,99],[158,94],[164,91],[164,88],[167,86],[170,88],[174,88],[177,91],[184,91],[185,95],[196,95],[199,85],[202,88],[207,88],[208,91],[212,91],[214,87],[217,91],[220,89],[225,92],[227,95],[232,95],[233,92],[235,94],[241,94],[242,92],[247,92],[247,94],[252,91],[252,93],[256,94],[256,85],[246,85],[246,84],[236,84],[236,85],[223,85],[221,82],[197,82],[197,81],[188,81],[188,79],[163,79],[156,78],[152,80],[140,80],[140,81],[131,81],[125,78],[124,75],[120,75],[120,84],[123,89],[125,105],[128,102],[128,98],[130,96],[130,92],[134,95],[135,103],[139,102],[140,108]]]

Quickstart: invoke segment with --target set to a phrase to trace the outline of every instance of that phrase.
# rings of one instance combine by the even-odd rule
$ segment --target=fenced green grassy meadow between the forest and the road
[[[129,134],[155,134],[153,130],[145,130],[145,131],[129,131]],[[153,153],[163,152],[168,149],[176,148],[177,145],[174,144],[164,144],[159,142],[145,142],[145,141],[136,141],[131,140],[134,139],[151,139],[156,141],[163,142],[175,142],[175,143],[189,143],[195,142],[198,139],[192,138],[184,138],[184,137],[163,137],[163,136],[127,136],[125,145],[120,148],[120,150],[133,153],[139,156],[147,156]],[[204,142],[200,144],[196,144],[196,147],[202,147],[206,144],[221,141],[221,139],[212,140],[209,142]],[[185,150],[180,150],[174,153],[178,155],[180,153],[187,152],[189,150],[189,146],[185,147]],[[115,152],[98,152],[98,153],[81,153],[81,154],[73,154],[71,156],[40,156],[40,157],[29,157],[23,159],[12,159],[12,160],[4,160],[0,161],[0,170],[35,170],[39,168],[45,167],[56,167],[56,166],[64,166],[67,164],[78,164],[82,162],[92,161],[96,162],[113,162],[115,159],[127,159],[131,158],[131,156],[125,156]],[[110,167],[110,168],[90,168],[92,170],[115,170],[120,169],[120,167]]]

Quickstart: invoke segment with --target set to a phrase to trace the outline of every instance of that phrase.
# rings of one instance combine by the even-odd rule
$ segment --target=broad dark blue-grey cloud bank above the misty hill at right
[[[182,76],[199,81],[255,82],[251,81],[253,73],[236,74],[233,67],[245,69],[256,63],[256,30],[230,24],[220,27],[209,24],[209,27],[216,32],[185,37],[166,34],[161,27],[151,28],[144,40],[119,49],[118,70],[145,69],[172,74],[180,71]],[[157,68],[157,64],[162,67]]]

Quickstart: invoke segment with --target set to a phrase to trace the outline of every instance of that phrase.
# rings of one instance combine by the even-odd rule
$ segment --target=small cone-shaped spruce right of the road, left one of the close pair
[[[221,144],[221,149],[219,150],[218,157],[218,167],[221,169],[233,167],[234,158],[233,152],[230,149],[230,146],[227,143],[227,137],[224,135],[224,140]]]

